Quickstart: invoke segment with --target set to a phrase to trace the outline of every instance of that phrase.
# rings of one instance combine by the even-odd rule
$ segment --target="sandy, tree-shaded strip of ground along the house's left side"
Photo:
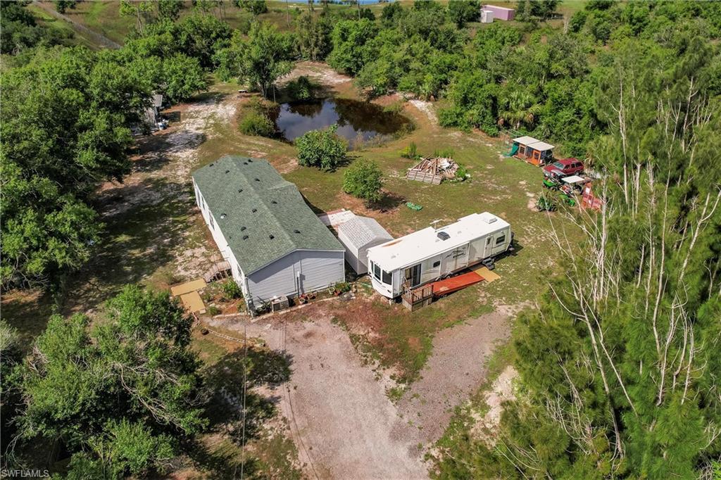
[[[198,151],[217,125],[234,117],[236,99],[208,94],[168,111],[177,120],[167,130],[141,138],[133,172],[123,183],[106,182],[97,207],[107,226],[104,243],[74,279],[63,311],[92,314],[127,283],[164,287],[202,275],[216,253],[195,214],[190,172]]]

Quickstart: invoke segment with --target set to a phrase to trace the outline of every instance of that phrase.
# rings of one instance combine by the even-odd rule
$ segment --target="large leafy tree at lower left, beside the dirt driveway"
[[[71,476],[163,471],[177,440],[206,425],[192,324],[167,293],[136,286],[94,328],[81,314],[53,316],[23,371],[22,437],[60,440]]]

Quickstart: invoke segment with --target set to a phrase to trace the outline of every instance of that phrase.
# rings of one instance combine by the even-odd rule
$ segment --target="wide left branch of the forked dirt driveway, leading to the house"
[[[292,357],[280,409],[306,475],[319,479],[425,479],[417,429],[398,416],[384,383],[363,365],[348,334],[320,310],[310,321],[249,322],[249,336]],[[273,323],[270,323],[273,322]],[[242,321],[214,321],[242,331]]]

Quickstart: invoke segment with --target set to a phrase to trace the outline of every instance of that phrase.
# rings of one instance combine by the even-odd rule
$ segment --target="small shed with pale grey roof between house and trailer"
[[[373,218],[353,217],[338,227],[338,240],[345,246],[345,260],[355,273],[368,273],[368,249],[393,237]]]

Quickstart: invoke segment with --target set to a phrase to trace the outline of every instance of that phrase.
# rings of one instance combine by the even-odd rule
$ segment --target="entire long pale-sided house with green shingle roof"
[[[249,310],[345,279],[345,249],[267,161],[224,156],[193,172],[193,187]]]

